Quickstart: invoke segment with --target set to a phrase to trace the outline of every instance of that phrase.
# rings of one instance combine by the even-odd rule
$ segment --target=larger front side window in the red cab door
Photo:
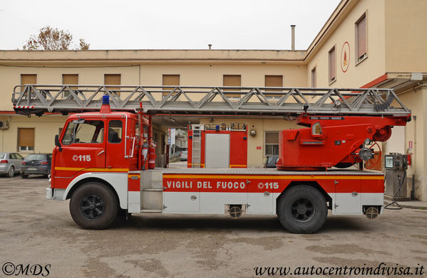
[[[104,139],[103,134],[103,121],[73,120],[68,123],[62,138],[62,144],[101,144]]]

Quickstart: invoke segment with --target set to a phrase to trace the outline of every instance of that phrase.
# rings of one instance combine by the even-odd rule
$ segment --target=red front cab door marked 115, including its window
[[[71,178],[85,169],[106,167],[104,119],[74,119],[63,132],[56,151],[55,178]]]

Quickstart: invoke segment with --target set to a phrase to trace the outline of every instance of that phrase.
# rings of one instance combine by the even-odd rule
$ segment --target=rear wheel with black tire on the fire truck
[[[279,199],[277,216],[289,232],[311,234],[324,225],[328,208],[324,196],[312,186],[294,186]]]

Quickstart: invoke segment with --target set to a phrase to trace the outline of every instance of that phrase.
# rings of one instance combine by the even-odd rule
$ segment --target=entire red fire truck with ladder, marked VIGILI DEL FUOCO
[[[74,113],[55,138],[46,198],[71,199],[71,217],[81,228],[107,228],[118,213],[228,213],[277,215],[290,232],[311,233],[324,225],[328,210],[369,218],[383,213],[384,174],[364,170],[363,163],[374,158],[375,141],[386,141],[391,127],[411,119],[393,90],[274,89],[282,90],[275,102],[264,94],[271,88],[240,87],[242,97],[234,101],[227,87],[170,87],[165,94],[155,86],[121,86],[118,93],[106,86],[26,85],[16,86],[12,101],[19,114]],[[310,95],[316,100],[309,102]],[[222,127],[192,131],[192,168],[154,169],[152,115],[216,112],[212,107],[222,114],[296,117],[305,127],[280,132],[277,169],[232,167],[246,166],[247,154],[228,169],[200,168],[195,141]],[[246,136],[242,130],[235,138]]]

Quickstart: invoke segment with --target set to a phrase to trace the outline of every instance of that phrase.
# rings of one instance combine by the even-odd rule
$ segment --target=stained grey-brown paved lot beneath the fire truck
[[[222,215],[132,215],[93,231],[73,223],[68,201],[46,201],[47,186],[46,178],[36,176],[0,177],[2,266],[50,264],[48,277],[256,277],[255,267],[381,262],[427,267],[426,210],[386,210],[376,220],[329,216],[315,235],[290,234],[273,216]]]

